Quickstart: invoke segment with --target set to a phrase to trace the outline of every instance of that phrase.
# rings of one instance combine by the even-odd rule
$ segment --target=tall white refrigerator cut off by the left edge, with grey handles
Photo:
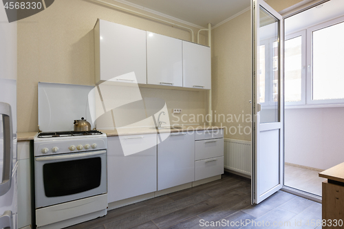
[[[17,228],[17,23],[0,4],[0,228]]]

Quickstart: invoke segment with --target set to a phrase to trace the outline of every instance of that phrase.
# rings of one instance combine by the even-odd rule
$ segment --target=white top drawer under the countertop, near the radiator
[[[195,160],[204,160],[224,155],[224,139],[201,140],[195,142]]]

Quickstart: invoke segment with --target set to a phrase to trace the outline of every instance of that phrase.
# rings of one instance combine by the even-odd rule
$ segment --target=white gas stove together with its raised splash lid
[[[107,135],[73,131],[74,120],[91,120],[92,89],[39,83],[43,132],[34,138],[37,228],[65,228],[107,214]]]

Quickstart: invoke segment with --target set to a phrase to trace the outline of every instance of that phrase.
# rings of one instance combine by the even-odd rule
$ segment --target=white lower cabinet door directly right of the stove
[[[140,147],[142,140],[132,140]],[[137,142],[136,142],[137,141]],[[144,142],[156,142],[156,134]],[[109,203],[156,191],[156,146],[125,156],[118,137],[107,138],[107,198]]]

